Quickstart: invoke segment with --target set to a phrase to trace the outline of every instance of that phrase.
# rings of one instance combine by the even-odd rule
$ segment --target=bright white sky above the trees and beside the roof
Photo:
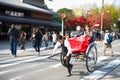
[[[89,8],[90,5],[96,4],[98,7],[102,6],[102,0],[44,0],[49,9],[57,11],[60,8],[69,8],[84,6]],[[104,4],[120,5],[120,0],[104,0]]]

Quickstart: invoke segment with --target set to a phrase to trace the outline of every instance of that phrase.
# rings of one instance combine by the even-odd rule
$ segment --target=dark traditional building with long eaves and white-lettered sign
[[[42,30],[58,30],[61,24],[53,20],[55,12],[46,9],[44,0],[0,0],[0,39],[6,39],[12,23],[31,34],[33,27]]]

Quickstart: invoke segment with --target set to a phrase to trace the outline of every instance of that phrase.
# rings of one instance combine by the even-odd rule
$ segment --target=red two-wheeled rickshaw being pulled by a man
[[[83,35],[69,38],[68,41],[71,46],[72,57],[79,59],[82,55],[88,72],[93,72],[97,63],[97,48],[96,43],[92,41],[92,37]],[[62,65],[65,66],[63,59],[63,53],[61,53],[60,60]]]

